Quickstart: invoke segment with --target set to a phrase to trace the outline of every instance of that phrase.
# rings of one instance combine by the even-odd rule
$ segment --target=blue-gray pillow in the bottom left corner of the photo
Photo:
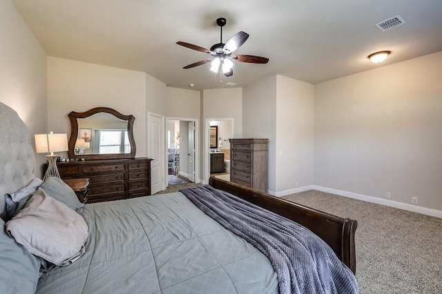
[[[3,219],[0,224],[1,293],[35,293],[39,282],[39,257],[9,237]]]

